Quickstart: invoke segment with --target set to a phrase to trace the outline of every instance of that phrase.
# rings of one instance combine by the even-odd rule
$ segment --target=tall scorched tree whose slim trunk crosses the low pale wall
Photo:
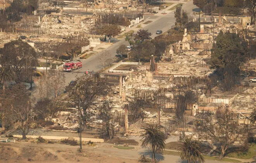
[[[100,77],[99,74],[77,77],[76,85],[68,90],[68,105],[76,108],[79,113],[80,149],[82,149],[81,132],[87,128],[87,122],[93,115],[96,106],[100,104],[97,98],[106,95],[110,91],[111,88],[107,85],[106,79]]]

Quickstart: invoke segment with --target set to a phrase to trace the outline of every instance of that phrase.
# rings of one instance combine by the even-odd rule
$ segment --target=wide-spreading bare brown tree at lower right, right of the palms
[[[202,114],[197,121],[197,130],[202,138],[210,138],[212,143],[220,145],[220,158],[222,159],[227,149],[232,146],[235,141],[243,141],[239,138],[242,131],[245,131],[237,121],[237,116],[228,105],[223,105],[216,109],[216,114]]]

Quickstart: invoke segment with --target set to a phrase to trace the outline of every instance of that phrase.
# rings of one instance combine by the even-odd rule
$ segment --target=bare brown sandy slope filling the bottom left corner
[[[0,143],[0,163],[137,163],[137,160],[114,157],[86,147],[82,153],[79,146],[65,144],[34,144],[29,142]]]

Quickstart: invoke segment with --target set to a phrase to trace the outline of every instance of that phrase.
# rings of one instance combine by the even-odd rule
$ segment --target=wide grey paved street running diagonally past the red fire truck
[[[195,5],[193,5],[193,1],[186,3],[183,5],[183,9],[187,11],[188,13],[192,13],[192,9],[196,8]],[[152,18],[151,18],[152,17]],[[152,33],[152,38],[156,37],[156,30],[162,30],[163,32],[167,31],[171,28],[172,25],[175,23],[175,18],[173,12],[170,12],[169,14],[162,15],[154,15],[154,16],[147,16],[145,19],[150,20],[152,19],[152,23],[147,25],[144,29],[148,29]],[[159,19],[160,18],[160,19]],[[154,20],[156,19],[156,20]],[[125,41],[125,39],[121,39],[115,44],[113,44],[111,47],[107,48],[106,50],[109,51],[110,55],[109,58],[114,58],[116,55],[116,49],[121,45],[125,44],[128,46],[128,42]],[[94,56],[83,60],[83,68],[79,70],[74,70],[72,72],[65,72],[66,76],[66,85],[71,81],[74,80],[76,76],[81,76],[83,73],[85,73],[86,70],[89,71],[99,71],[102,69],[102,65],[100,64],[99,58],[102,53],[97,53]]]

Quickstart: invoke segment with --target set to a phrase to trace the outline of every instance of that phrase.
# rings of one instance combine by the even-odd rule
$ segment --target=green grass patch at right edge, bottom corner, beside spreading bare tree
[[[253,143],[249,146],[248,151],[235,151],[229,153],[228,157],[240,158],[240,159],[250,159],[256,156],[256,143]]]

